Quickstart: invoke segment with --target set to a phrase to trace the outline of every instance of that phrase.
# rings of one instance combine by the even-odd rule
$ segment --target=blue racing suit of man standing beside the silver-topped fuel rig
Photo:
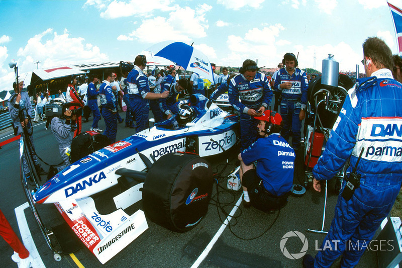
[[[280,84],[284,82],[292,82],[290,89],[280,88]],[[298,116],[300,109],[307,107],[307,90],[309,82],[306,72],[295,68],[292,75],[286,71],[286,68],[279,69],[275,76],[274,89],[281,92],[282,101],[280,102],[280,115],[283,120],[282,137],[289,139],[290,127],[292,131],[292,146],[298,149],[300,146],[300,130],[302,121]]]

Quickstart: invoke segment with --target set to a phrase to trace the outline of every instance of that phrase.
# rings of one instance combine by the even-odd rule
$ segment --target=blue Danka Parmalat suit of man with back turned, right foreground
[[[351,172],[362,148],[356,171],[361,175],[360,186],[346,201],[341,196],[346,184],[343,181],[330,231],[315,257],[316,267],[330,267],[340,254],[342,267],[356,265],[399,193],[402,84],[388,69],[358,79],[348,91],[326,149],[313,169],[314,177],[330,180],[349,157]]]

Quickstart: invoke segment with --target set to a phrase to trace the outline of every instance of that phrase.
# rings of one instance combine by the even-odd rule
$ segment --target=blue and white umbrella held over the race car
[[[214,81],[210,60],[203,52],[190,45],[183,42],[163,41],[151,46],[146,51],[150,51],[153,56],[171,60],[187,71],[193,71],[212,82]]]

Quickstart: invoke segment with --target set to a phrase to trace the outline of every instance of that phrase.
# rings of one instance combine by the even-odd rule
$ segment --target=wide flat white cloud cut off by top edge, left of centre
[[[100,17],[105,19],[116,19],[129,16],[150,17],[153,11],[172,11],[178,8],[171,5],[169,0],[147,0],[147,1],[99,1],[88,0],[84,6],[95,6],[100,13]]]

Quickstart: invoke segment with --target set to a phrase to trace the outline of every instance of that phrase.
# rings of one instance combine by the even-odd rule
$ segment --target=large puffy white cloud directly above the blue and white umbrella
[[[205,14],[211,9],[211,6],[205,4],[195,10],[189,7],[178,8],[168,18],[159,16],[144,20],[129,36],[145,43],[164,40],[188,42],[191,38],[206,37],[209,25]]]

